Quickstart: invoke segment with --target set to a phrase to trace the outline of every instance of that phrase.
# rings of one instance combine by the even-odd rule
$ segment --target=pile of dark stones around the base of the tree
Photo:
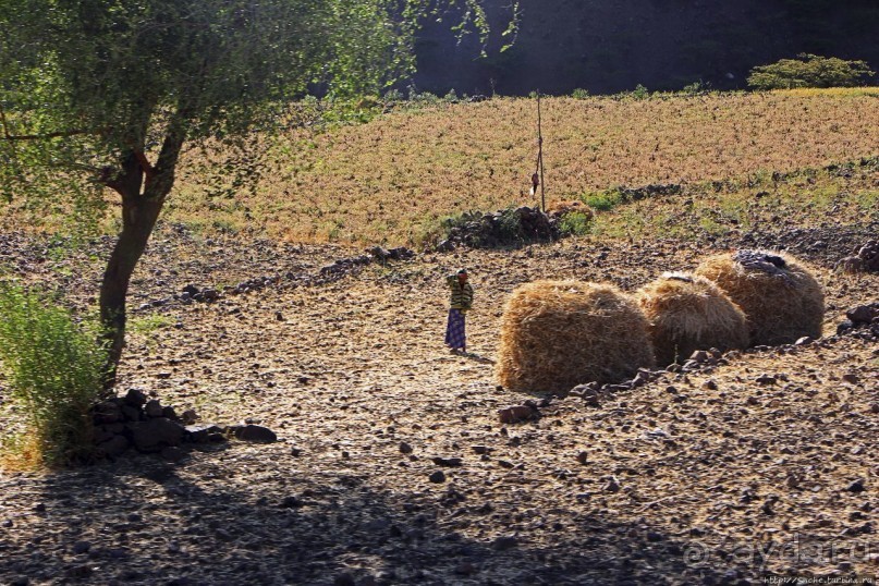
[[[223,443],[230,437],[265,443],[278,440],[270,429],[253,424],[196,425],[198,415],[194,410],[178,415],[174,407],[162,405],[139,389],[130,389],[125,396],[98,403],[91,410],[91,417],[98,459],[115,459],[136,450],[180,461],[186,456],[184,444]]]

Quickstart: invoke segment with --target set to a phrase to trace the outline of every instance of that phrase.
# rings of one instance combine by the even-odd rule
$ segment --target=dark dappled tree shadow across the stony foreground
[[[366,473],[303,477],[244,457],[234,466],[203,465],[197,477],[186,466],[137,456],[41,478],[0,480],[4,490],[22,497],[40,491],[42,504],[13,515],[17,528],[0,537],[0,582],[605,585],[727,579],[722,570],[687,565],[698,544],[660,535],[646,523],[585,512],[578,501],[559,499],[552,511],[524,504],[510,510],[472,500],[453,479],[441,488],[406,492],[376,489]],[[240,472],[247,480],[236,478]],[[7,498],[0,515],[10,515],[16,500]],[[534,529],[512,533],[508,527],[523,517],[535,521]]]

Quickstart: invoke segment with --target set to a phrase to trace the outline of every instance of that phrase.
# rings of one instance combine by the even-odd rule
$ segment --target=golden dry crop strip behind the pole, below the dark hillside
[[[548,197],[614,185],[738,181],[876,156],[879,90],[551,98]],[[493,99],[291,133],[255,195],[206,200],[181,182],[175,221],[301,241],[417,243],[466,209],[534,203],[535,103]],[[185,173],[183,173],[185,175]]]

